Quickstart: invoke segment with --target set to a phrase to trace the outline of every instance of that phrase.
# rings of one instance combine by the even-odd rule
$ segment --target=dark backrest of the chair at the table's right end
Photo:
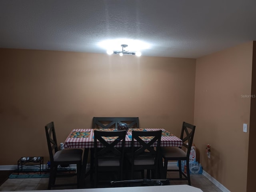
[[[182,140],[182,146],[186,148],[187,157],[190,155],[191,146],[193,144],[193,138],[196,126],[183,122],[180,134],[180,139]]]

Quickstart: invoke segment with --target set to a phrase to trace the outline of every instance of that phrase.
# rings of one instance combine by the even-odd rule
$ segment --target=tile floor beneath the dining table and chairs
[[[174,178],[178,172],[168,173],[168,178]],[[0,191],[22,191],[22,190],[47,190],[49,178],[25,178],[25,179],[8,179],[0,186]],[[70,178],[57,178],[56,183],[63,183],[68,181],[76,182],[76,177]],[[187,181],[177,181],[171,180],[171,185],[179,184],[188,184]],[[210,180],[205,176],[201,175],[192,175],[191,176],[191,185],[197,188],[200,188],[203,192],[222,192],[217,186],[215,186]],[[108,187],[109,185],[100,184],[98,187]],[[68,187],[55,187],[52,189],[74,189],[76,186]],[[90,182],[90,176],[86,178],[85,188],[92,188]]]

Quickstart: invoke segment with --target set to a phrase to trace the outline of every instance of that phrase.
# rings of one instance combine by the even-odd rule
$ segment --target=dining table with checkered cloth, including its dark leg
[[[115,128],[109,129],[73,129],[64,142],[64,148],[83,148],[83,162],[81,170],[81,178],[85,178],[89,172],[86,173],[86,165],[88,161],[88,154],[91,148],[94,148],[94,130],[102,131],[117,131]],[[182,140],[177,136],[171,134],[165,129],[162,128],[129,128],[126,138],[125,138],[125,147],[131,147],[132,144],[132,131],[156,131],[162,130],[161,143],[160,146],[168,147],[175,146],[181,147]],[[151,140],[150,138],[143,138],[145,141]],[[107,138],[107,141],[113,141],[113,138]],[[121,143],[120,143],[121,146]],[[137,142],[134,143],[134,146],[140,146]],[[153,146],[154,147],[154,146]]]

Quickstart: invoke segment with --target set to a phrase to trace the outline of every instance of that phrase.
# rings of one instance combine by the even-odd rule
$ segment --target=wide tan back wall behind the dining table
[[[195,59],[0,49],[0,60],[0,165],[48,160],[50,121],[63,142],[93,116],[138,116],[178,136],[194,120]]]

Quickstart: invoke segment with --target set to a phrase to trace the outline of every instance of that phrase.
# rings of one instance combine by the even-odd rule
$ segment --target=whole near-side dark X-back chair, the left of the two
[[[99,181],[99,172],[117,172],[122,180],[126,131],[94,130],[94,185]],[[111,139],[110,139],[111,137]],[[121,142],[121,146],[118,145]],[[109,180],[108,176],[105,180]]]

